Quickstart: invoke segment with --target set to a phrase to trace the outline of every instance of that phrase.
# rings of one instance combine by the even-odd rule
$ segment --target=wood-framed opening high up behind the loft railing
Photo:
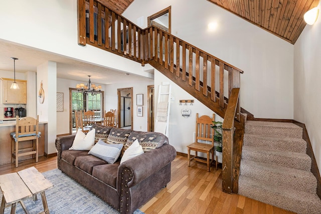
[[[171,33],[171,6],[147,17],[147,26],[152,25]]]

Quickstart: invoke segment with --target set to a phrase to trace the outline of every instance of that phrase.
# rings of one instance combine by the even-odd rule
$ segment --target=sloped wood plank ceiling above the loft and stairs
[[[122,14],[134,0],[98,0]],[[200,0],[197,0],[200,1]],[[203,0],[204,1],[204,0]],[[303,15],[319,0],[207,0],[294,44],[305,27]]]

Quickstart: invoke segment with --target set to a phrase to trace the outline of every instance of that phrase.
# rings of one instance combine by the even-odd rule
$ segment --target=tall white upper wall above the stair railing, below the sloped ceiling
[[[137,23],[172,6],[172,34],[242,70],[241,106],[256,118],[293,119],[293,45],[209,1],[135,0],[123,13]],[[209,22],[218,29],[209,32]]]

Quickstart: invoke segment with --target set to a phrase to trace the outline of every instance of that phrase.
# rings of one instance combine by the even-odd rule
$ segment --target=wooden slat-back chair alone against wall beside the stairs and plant
[[[212,118],[207,115],[199,117],[199,113],[196,114],[195,142],[187,146],[189,166],[191,165],[191,160],[195,159],[206,163],[207,171],[210,171],[210,166],[214,161],[214,129],[211,127],[214,119],[215,114],[213,114]],[[191,150],[195,151],[195,156],[191,157]],[[206,153],[206,158],[199,157],[198,152]],[[210,158],[210,153],[212,153],[212,159]]]

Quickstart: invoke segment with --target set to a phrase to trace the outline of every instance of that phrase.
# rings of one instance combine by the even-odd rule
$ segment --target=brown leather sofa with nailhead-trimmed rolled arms
[[[109,127],[110,133],[114,133],[113,130],[120,129]],[[121,164],[120,157],[114,164],[108,164],[88,155],[88,151],[68,150],[75,135],[62,136],[56,139],[58,168],[120,213],[133,213],[170,182],[171,162],[176,157],[175,148],[162,133],[135,133],[153,134],[163,141],[161,147],[146,151]],[[96,129],[97,136],[101,137]],[[79,162],[85,163],[85,166],[77,164]]]

